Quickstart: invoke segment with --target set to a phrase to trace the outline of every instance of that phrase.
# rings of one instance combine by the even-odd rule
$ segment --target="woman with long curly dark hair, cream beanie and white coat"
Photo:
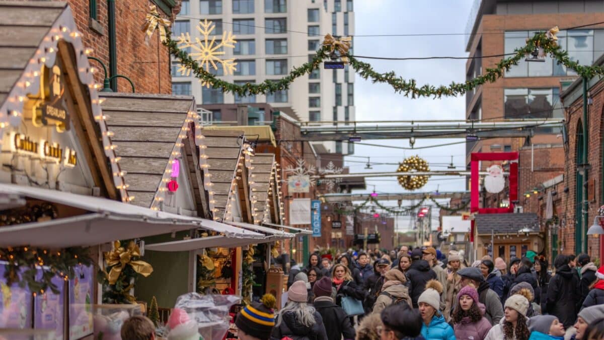
[[[528,300],[522,295],[512,295],[506,300],[503,319],[489,330],[485,340],[528,340],[527,327]]]

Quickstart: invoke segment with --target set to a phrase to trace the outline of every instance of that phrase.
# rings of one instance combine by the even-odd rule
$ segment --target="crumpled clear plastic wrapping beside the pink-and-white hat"
[[[170,329],[168,339],[171,340],[176,325],[187,325],[186,319],[188,317],[196,322],[198,333],[205,340],[222,340],[230,326],[229,310],[240,300],[241,296],[236,295],[187,293],[179,296],[176,299],[175,309],[172,311],[172,313],[176,312],[177,315],[170,315],[171,320],[168,321]],[[182,313],[181,310],[185,313]]]

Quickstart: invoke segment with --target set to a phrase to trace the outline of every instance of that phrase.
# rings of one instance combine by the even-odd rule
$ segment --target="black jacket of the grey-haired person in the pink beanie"
[[[281,340],[288,336],[294,340],[327,340],[327,333],[323,324],[323,318],[315,311],[315,324],[307,327],[295,319],[292,312],[277,316],[282,318],[281,323],[272,329],[271,340]]]

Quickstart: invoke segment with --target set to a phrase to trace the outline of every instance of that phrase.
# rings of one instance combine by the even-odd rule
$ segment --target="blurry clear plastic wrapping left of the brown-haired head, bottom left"
[[[130,316],[141,315],[138,304],[97,304],[94,305],[92,323],[94,339],[122,340],[121,325]]]

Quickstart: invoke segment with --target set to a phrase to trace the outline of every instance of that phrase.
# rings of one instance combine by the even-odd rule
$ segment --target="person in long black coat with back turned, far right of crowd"
[[[565,328],[573,325],[577,319],[579,302],[579,279],[573,273],[574,269],[568,266],[569,261],[567,255],[558,255],[554,260],[556,274],[552,276],[547,288],[546,304],[547,312],[556,316]]]

